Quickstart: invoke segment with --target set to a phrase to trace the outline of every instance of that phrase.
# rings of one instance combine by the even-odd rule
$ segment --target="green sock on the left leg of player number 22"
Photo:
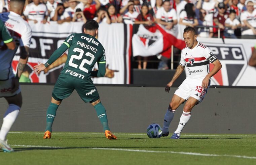
[[[46,128],[45,131],[52,131],[51,130],[51,126],[54,120],[54,117],[56,116],[56,111],[58,109],[59,105],[54,104],[54,103],[50,103],[48,109],[47,109],[47,113],[46,113]]]

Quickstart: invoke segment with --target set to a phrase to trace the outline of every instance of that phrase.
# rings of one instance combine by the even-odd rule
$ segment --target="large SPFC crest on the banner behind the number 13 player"
[[[217,43],[206,43],[206,45],[222,64],[221,70],[211,78],[213,85],[236,86],[247,67],[244,46],[242,44]],[[210,63],[210,70],[213,67],[214,65]]]

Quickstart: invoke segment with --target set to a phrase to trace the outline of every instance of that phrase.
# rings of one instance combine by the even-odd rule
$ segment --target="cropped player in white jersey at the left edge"
[[[8,109],[4,114],[3,124],[0,130],[0,146],[5,152],[12,152],[6,143],[6,135],[18,116],[22,106],[22,95],[19,86],[19,78],[28,61],[29,45],[31,40],[31,28],[22,19],[25,0],[10,0],[9,10],[0,14],[0,19],[5,22],[7,29],[14,40],[20,44],[20,60],[17,66],[16,76],[12,72],[12,59],[18,49],[0,50],[0,97],[4,97],[8,102]]]

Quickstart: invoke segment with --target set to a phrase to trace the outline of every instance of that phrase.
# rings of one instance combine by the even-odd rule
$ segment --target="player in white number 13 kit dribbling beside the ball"
[[[171,139],[180,139],[180,133],[190,119],[192,108],[203,101],[211,84],[210,78],[222,67],[220,61],[213,55],[211,49],[196,40],[197,35],[193,27],[186,27],[183,37],[187,47],[181,51],[180,64],[172,80],[165,88],[166,92],[170,91],[170,87],[172,87],[174,81],[180,76],[186,66],[188,71],[186,79],[175,91],[164,116],[162,136],[168,136],[169,125],[176,109],[186,101],[178,128],[174,131]],[[214,65],[211,72],[209,69],[210,62]]]

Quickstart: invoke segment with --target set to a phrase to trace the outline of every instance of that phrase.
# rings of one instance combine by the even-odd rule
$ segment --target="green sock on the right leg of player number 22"
[[[106,110],[104,108],[104,106],[102,105],[102,103],[98,103],[94,106],[96,113],[101,121],[101,124],[103,126],[103,130],[110,130],[108,127],[108,118],[107,118],[107,113]]]

